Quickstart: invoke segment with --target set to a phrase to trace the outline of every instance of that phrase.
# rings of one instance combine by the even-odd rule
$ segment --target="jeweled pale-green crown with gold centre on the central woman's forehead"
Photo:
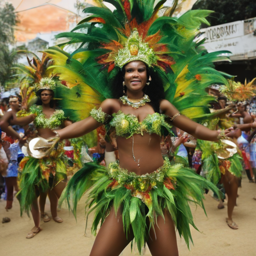
[[[145,62],[148,66],[156,64],[156,56],[152,48],[149,47],[147,42],[143,42],[142,38],[138,35],[138,31],[134,30],[127,39],[124,48],[118,50],[115,57],[115,65],[122,68],[123,65],[130,61],[140,60]]]

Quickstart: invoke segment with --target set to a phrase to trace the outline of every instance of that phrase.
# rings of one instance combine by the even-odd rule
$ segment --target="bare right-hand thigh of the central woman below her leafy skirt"
[[[177,239],[173,220],[169,212],[163,210],[164,219],[157,217],[154,230],[151,227],[147,240],[152,256],[178,256]]]

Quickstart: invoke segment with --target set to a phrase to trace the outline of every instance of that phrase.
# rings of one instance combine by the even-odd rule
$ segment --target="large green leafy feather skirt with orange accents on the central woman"
[[[94,211],[92,233],[96,234],[97,225],[102,225],[111,207],[114,207],[115,213],[120,208],[124,232],[127,234],[131,227],[133,242],[140,254],[148,238],[147,217],[153,227],[156,217],[163,217],[163,209],[166,208],[179,235],[189,246],[189,239],[192,241],[189,224],[197,229],[189,202],[204,209],[204,188],[218,193],[217,187],[211,182],[181,164],[171,165],[168,158],[156,171],[144,175],[127,172],[117,163],[110,163],[107,169],[95,163],[85,163],[69,180],[60,203],[66,199],[76,217],[77,202],[89,188],[86,215],[88,217]]]

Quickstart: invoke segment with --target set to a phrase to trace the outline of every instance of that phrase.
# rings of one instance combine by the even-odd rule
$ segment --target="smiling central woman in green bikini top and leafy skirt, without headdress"
[[[203,186],[213,186],[200,176],[194,174],[192,170],[182,168],[180,165],[170,166],[167,158],[163,161],[159,147],[160,130],[162,128],[169,130],[170,128],[164,121],[164,115],[170,116],[175,126],[180,127],[182,130],[201,139],[217,140],[219,132],[209,130],[204,126],[189,120],[185,116],[180,115],[169,101],[162,99],[161,95],[158,95],[158,98],[155,98],[155,101],[152,102],[149,95],[145,95],[143,92],[149,77],[149,74],[146,71],[147,66],[144,62],[139,60],[128,61],[127,63],[124,63],[123,68],[124,83],[126,87],[125,96],[120,97],[120,100],[104,100],[98,110],[94,109],[91,111],[90,117],[57,131],[58,136],[61,139],[80,136],[100,126],[102,122],[107,121],[108,116],[110,117],[110,115],[112,115],[113,118],[108,123],[116,129],[120,165],[116,163],[110,164],[108,170],[106,170],[97,165],[89,163],[85,164],[85,167],[79,170],[70,179],[65,195],[69,197],[69,193],[74,192],[73,189],[75,190],[76,188],[88,188],[89,183],[92,181],[89,179],[94,175],[98,175],[96,178],[98,182],[95,182],[94,184],[94,189],[96,190],[90,194],[90,199],[92,199],[92,201],[96,200],[96,197],[100,196],[106,189],[106,194],[103,192],[100,196],[101,198],[94,207],[96,208],[96,215],[99,214],[98,217],[100,216],[104,222],[97,234],[91,255],[106,255],[105,252],[109,250],[109,255],[110,253],[111,255],[118,255],[133,237],[135,238],[135,242],[137,243],[140,252],[141,248],[144,246],[144,242],[147,241],[149,249],[153,255],[156,255],[156,253],[166,253],[168,246],[171,246],[172,253],[175,255],[174,251],[177,253],[177,245],[173,223],[177,225],[177,228],[180,228],[180,233],[184,236],[188,235],[185,233],[188,231],[186,229],[188,226],[181,227],[181,223],[178,223],[178,218],[182,217],[179,216],[178,213],[174,213],[175,211],[181,210],[181,204],[185,203],[185,198],[192,192],[192,190],[187,191],[187,195],[183,194],[183,196],[185,196],[184,198],[179,198],[181,195],[178,194],[179,189],[181,189],[182,183],[185,182],[183,180],[183,175],[189,177],[186,180],[187,182],[192,182],[191,180],[194,180],[198,188],[199,186],[201,188]],[[156,86],[154,83],[155,81],[151,79],[150,84],[152,87]],[[159,82],[157,86],[160,86]],[[151,94],[149,87],[147,88],[147,91],[148,94]],[[157,107],[154,109],[152,105],[157,104],[157,101],[158,106],[164,115],[155,112],[157,111]],[[173,118],[173,116],[175,117]],[[122,125],[123,123],[124,125]],[[144,127],[142,125],[144,125]],[[77,179],[78,176],[81,178],[80,182]],[[75,187],[74,183],[77,182],[77,187]],[[168,191],[172,189],[173,191],[171,192],[173,194],[171,195],[171,192],[167,192],[164,187],[167,188],[167,190],[169,189]],[[190,187],[190,189],[192,188]],[[199,195],[199,197],[197,197],[197,195],[197,199],[194,198],[195,200],[198,200],[202,196],[202,190],[199,189],[199,191],[201,195]],[[165,194],[165,192],[168,195]],[[183,192],[180,191],[180,193]],[[108,193],[110,196],[109,198],[107,198]],[[115,198],[118,194],[121,196],[118,197],[119,199],[117,199],[117,197]],[[176,202],[171,199],[174,194]],[[157,195],[159,198],[162,198],[163,201],[166,200],[163,203],[163,205],[166,203],[166,208],[157,203]],[[193,194],[193,196],[194,195],[195,194]],[[127,200],[126,203],[124,201],[125,197]],[[143,203],[141,203],[141,199]],[[77,200],[77,198],[75,198],[75,200]],[[121,202],[123,203],[122,206]],[[200,203],[200,199],[197,202]],[[102,209],[102,203],[107,203],[107,207]],[[157,204],[153,205],[154,203]],[[132,207],[134,207],[134,209],[132,209]],[[147,211],[147,208],[148,212],[145,212]],[[73,210],[75,212],[75,209]],[[103,210],[103,212],[101,212],[101,210]],[[108,210],[110,211],[110,214],[107,216]],[[132,210],[134,211],[133,213]],[[187,211],[188,208],[183,210]],[[127,217],[130,218],[131,214],[134,214],[131,219],[125,219]],[[158,227],[156,226],[154,214],[158,215]],[[149,216],[149,225],[146,225],[145,222],[146,215]],[[118,221],[118,218],[120,219],[121,216],[123,221]],[[187,218],[188,216],[183,217]],[[95,217],[93,231],[96,228],[98,220],[99,219]],[[135,223],[138,224],[137,227]],[[193,222],[191,223],[193,224]],[[130,230],[130,224],[132,230]],[[123,232],[123,225],[127,237],[125,232]],[[104,237],[106,232],[109,232],[110,226],[112,235],[111,238],[108,237],[106,239]],[[149,226],[151,226],[151,228],[149,228]],[[141,228],[143,230],[142,233]],[[157,240],[155,238],[152,238],[152,240],[146,238],[146,228],[150,229],[149,236],[151,238],[154,237],[153,232],[155,232]],[[185,228],[186,231],[182,230],[183,228]],[[164,242],[166,239],[171,241],[171,244],[166,245]],[[106,246],[102,246],[102,241],[106,242]],[[116,245],[116,241],[118,241],[118,245]],[[99,246],[98,243],[101,243],[101,245]]]

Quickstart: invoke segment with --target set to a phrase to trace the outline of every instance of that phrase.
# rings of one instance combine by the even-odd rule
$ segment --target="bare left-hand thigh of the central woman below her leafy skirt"
[[[118,256],[133,237],[132,233],[126,237],[121,211],[115,216],[112,208],[96,235],[90,256]]]

